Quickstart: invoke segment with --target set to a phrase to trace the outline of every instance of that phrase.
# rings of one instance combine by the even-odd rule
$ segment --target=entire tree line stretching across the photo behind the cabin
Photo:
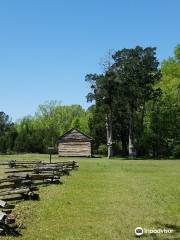
[[[101,74],[87,74],[92,105],[40,105],[13,123],[0,112],[0,152],[47,152],[72,127],[94,138],[94,154],[180,157],[180,45],[161,64],[156,48],[113,52]]]

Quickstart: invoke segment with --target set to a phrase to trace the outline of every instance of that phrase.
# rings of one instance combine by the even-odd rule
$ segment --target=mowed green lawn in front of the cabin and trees
[[[48,155],[0,159],[47,160]],[[73,159],[80,168],[63,177],[63,185],[40,187],[40,201],[17,205],[26,224],[18,239],[131,240],[138,226],[174,230],[141,239],[180,239],[180,161]]]

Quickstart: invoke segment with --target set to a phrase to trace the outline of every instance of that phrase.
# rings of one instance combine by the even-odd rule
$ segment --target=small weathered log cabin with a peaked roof
[[[72,128],[58,139],[59,156],[92,156],[92,138],[77,128]]]

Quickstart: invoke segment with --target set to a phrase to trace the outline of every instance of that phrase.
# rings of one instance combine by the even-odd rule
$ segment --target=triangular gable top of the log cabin
[[[90,142],[90,141],[93,140],[93,138],[91,138],[87,134],[81,132],[77,128],[71,128],[69,131],[67,131],[62,136],[60,136],[58,140],[59,140],[59,142],[68,141],[68,140],[69,141],[74,140],[74,141],[88,141],[88,142]]]

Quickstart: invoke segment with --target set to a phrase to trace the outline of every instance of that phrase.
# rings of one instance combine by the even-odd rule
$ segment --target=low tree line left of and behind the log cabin
[[[47,153],[48,146],[56,146],[58,137],[70,128],[89,133],[89,112],[80,105],[63,106],[57,101],[39,105],[34,116],[26,116],[12,123],[0,112],[0,152]]]

